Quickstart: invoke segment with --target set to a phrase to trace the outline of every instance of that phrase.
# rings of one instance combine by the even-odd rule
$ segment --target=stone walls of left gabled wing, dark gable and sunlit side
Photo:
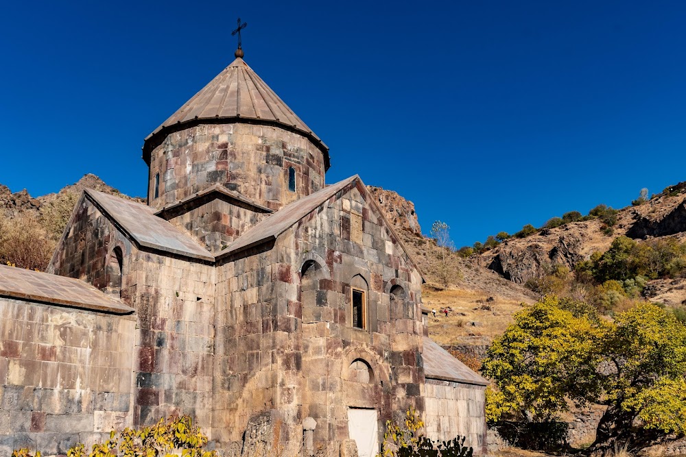
[[[50,270],[104,288],[106,259],[122,249],[121,299],[136,310],[134,425],[189,414],[209,430],[214,345],[214,267],[139,251],[87,199]]]

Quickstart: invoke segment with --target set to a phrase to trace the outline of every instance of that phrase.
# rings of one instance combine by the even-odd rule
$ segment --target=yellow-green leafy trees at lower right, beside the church
[[[608,406],[596,445],[686,434],[686,327],[648,303],[602,319],[582,301],[545,297],[514,315],[484,360],[486,415],[554,421],[577,406]]]

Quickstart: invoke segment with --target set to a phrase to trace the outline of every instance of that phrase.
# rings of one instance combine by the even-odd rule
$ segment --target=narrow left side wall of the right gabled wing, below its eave
[[[279,372],[299,367],[289,345],[293,319],[279,308],[274,288],[277,251],[248,253],[217,267],[213,439],[240,450],[251,417],[279,406],[292,389]]]

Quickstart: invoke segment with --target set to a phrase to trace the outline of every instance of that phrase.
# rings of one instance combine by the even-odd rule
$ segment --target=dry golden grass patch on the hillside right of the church
[[[488,344],[512,322],[512,314],[522,309],[521,302],[493,297],[480,291],[449,288],[423,290],[423,304],[429,310],[429,336],[441,345]],[[439,312],[451,308],[448,317]],[[490,310],[488,309],[490,308]],[[436,310],[436,317],[431,315]]]

